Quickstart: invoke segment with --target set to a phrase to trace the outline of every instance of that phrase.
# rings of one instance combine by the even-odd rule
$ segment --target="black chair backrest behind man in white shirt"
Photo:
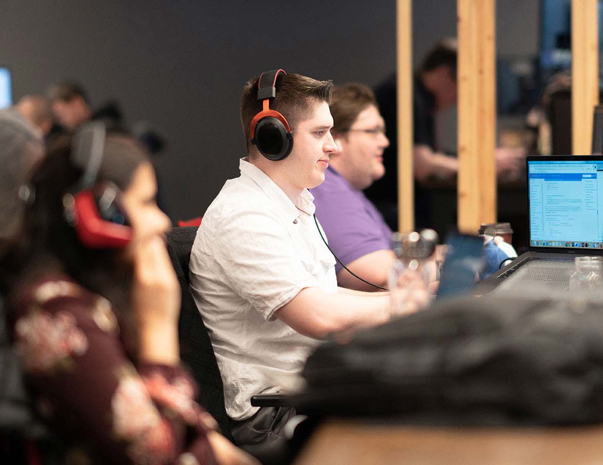
[[[178,321],[180,358],[199,386],[197,401],[218,422],[224,436],[234,442],[230,420],[224,408],[224,385],[203,318],[189,290],[189,259],[197,226],[175,227],[167,233],[169,257],[182,288],[182,308]]]

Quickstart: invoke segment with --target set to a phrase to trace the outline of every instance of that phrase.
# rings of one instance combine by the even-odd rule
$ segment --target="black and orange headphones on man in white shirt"
[[[270,100],[276,97],[276,78],[286,74],[283,69],[263,72],[257,80],[257,100],[263,109],[251,120],[251,144],[268,160],[285,159],[293,148],[293,134],[285,116],[270,109]]]

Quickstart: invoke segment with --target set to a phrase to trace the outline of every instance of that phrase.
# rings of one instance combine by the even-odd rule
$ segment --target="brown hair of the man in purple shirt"
[[[333,132],[348,131],[358,115],[371,105],[377,107],[377,99],[373,90],[364,84],[350,83],[335,86],[330,107],[333,116]]]

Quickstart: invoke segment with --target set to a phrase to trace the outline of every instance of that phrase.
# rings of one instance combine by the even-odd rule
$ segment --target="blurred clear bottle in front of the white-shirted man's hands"
[[[403,315],[415,311],[429,301],[429,283],[434,279],[434,255],[438,235],[432,229],[421,233],[394,233],[396,260],[389,276],[390,314]],[[432,269],[434,268],[434,269]]]

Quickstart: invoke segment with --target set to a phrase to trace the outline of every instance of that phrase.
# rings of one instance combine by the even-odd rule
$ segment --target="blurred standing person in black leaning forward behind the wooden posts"
[[[454,153],[441,151],[436,124],[437,114],[455,106],[458,99],[456,55],[456,39],[441,40],[426,55],[414,77],[413,162],[417,227],[431,227],[435,223],[437,212],[429,191],[438,186],[456,185],[458,159]],[[368,189],[367,196],[379,207],[390,227],[397,229],[396,75],[377,86],[375,94],[391,145],[384,153],[386,174]],[[525,159],[523,148],[500,147],[495,150],[494,157],[499,180],[515,180],[520,176]]]

